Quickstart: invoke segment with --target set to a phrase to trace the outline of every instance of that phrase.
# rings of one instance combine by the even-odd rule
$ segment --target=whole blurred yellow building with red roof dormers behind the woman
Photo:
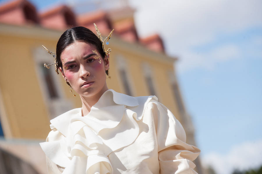
[[[38,143],[45,141],[50,131],[50,119],[81,107],[82,103],[79,96],[72,96],[61,73],[57,75],[54,71],[54,65],[50,69],[43,65],[53,63],[54,58],[42,45],[55,52],[56,43],[65,31],[59,28],[48,29],[47,26],[55,24],[52,20],[60,20],[63,15],[51,14],[50,11],[55,10],[50,10],[42,15],[45,23],[41,24],[40,19],[31,19],[26,15],[21,19],[11,18],[21,9],[24,10],[24,14],[29,14],[26,10],[36,14],[29,1],[17,0],[13,6],[15,10],[13,13],[9,10],[10,14],[7,15],[1,15],[4,10],[0,7],[0,123],[4,134],[4,139],[0,137],[0,150],[2,148],[8,151],[33,166],[38,173],[45,174],[45,155]],[[69,15],[65,16],[68,16],[68,19],[75,18],[67,7],[57,9],[60,9],[61,13],[66,10]],[[118,11],[119,14],[123,12],[126,13],[127,10]],[[109,58],[111,79],[107,79],[109,89],[131,96],[156,95],[159,102],[163,103],[185,128],[187,142],[194,144],[193,125],[190,116],[187,115],[176,80],[174,67],[177,58],[169,57],[161,51],[163,48],[159,42],[151,42],[149,47],[143,46],[134,28],[133,11],[123,19],[118,13],[112,13],[110,19],[110,25],[114,24],[119,28],[115,28],[109,43],[112,49]],[[52,15],[53,19],[50,19]],[[104,25],[108,20],[105,13],[99,12],[95,15],[100,18],[92,15],[89,15],[89,18],[104,26],[101,31],[107,31],[107,25]],[[8,24],[10,19],[23,22]],[[38,23],[33,24],[30,22],[32,20]],[[89,26],[88,20],[83,17],[78,21],[82,21],[83,26]],[[61,26],[65,28],[68,23],[65,22]],[[94,31],[94,27],[90,29]],[[144,40],[144,43],[146,42],[148,40]],[[201,174],[199,160],[195,163],[197,171]]]

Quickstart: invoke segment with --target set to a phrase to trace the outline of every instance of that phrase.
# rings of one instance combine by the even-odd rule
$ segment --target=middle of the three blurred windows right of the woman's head
[[[148,87],[149,95],[156,96],[156,90],[155,90],[155,86],[154,86],[154,83],[153,83],[153,78],[151,76],[151,74],[152,74],[151,67],[149,67],[149,65],[147,63],[143,63],[142,69],[143,69],[144,76],[145,76],[145,79],[146,79],[146,85]]]

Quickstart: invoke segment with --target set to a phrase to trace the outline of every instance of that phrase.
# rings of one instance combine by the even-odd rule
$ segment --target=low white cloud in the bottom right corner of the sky
[[[204,166],[212,166],[217,174],[230,174],[234,169],[248,170],[262,165],[262,140],[234,146],[227,154],[209,153],[202,157]]]

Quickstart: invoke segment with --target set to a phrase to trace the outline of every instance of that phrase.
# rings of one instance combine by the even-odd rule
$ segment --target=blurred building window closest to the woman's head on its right
[[[126,66],[126,60],[121,55],[118,55],[116,56],[116,63],[118,66],[119,76],[123,84],[125,94],[129,96],[133,96],[133,92],[131,88],[132,83],[130,82],[130,79],[127,73],[128,70]]]

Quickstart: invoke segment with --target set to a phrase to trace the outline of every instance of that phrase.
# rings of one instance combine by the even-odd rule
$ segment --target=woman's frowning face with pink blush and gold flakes
[[[102,58],[92,44],[76,41],[64,49],[60,56],[64,79],[81,96],[91,97],[107,90],[107,58]]]

